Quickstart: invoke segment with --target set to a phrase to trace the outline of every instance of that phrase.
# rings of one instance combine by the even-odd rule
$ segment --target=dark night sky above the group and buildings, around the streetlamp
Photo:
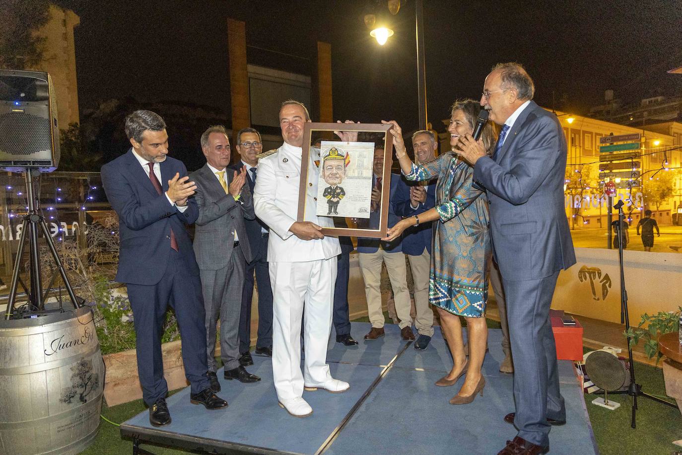
[[[393,16],[396,34],[385,46],[362,23],[367,2],[361,0],[56,3],[80,16],[75,36],[81,113],[103,100],[132,96],[213,106],[228,115],[226,18],[232,17],[246,21],[247,45],[254,46],[247,48],[249,63],[271,60],[276,68],[310,74],[315,42],[331,43],[336,118],[394,118],[406,130],[417,127],[413,1]],[[425,0],[429,121],[443,131],[441,119],[449,117],[452,102],[478,99],[499,61],[523,63],[535,80],[535,100],[572,113],[601,104],[606,89],[626,102],[680,96],[682,76],[666,73],[682,65],[680,5]]]

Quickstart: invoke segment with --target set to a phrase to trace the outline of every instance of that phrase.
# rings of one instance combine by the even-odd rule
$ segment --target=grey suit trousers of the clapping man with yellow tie
[[[216,326],[220,318],[220,359],[225,370],[239,367],[239,308],[246,259],[241,246],[232,250],[230,261],[218,270],[201,270],[206,308],[206,354],[209,371],[216,372]]]

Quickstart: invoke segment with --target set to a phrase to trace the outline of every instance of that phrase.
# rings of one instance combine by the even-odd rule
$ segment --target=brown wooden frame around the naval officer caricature
[[[370,228],[342,228],[323,227],[322,233],[331,237],[341,235],[349,237],[372,237],[381,239],[386,237],[388,229],[388,209],[391,189],[391,165],[393,164],[393,136],[388,132],[391,125],[382,123],[312,123],[307,122],[303,128],[303,155],[301,156],[301,181],[299,184],[299,206],[296,220],[303,222],[306,219],[306,194],[308,191],[308,173],[310,163],[310,141],[312,132],[353,131],[367,133],[383,133],[384,135],[384,164],[381,181],[381,205],[379,207],[379,226]],[[333,217],[330,217],[333,218]],[[348,222],[346,220],[346,225]]]

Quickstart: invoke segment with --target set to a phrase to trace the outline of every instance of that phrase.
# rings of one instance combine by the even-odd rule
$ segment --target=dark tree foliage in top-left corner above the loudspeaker
[[[0,68],[35,68],[45,46],[45,38],[35,31],[48,20],[48,0],[0,0]]]

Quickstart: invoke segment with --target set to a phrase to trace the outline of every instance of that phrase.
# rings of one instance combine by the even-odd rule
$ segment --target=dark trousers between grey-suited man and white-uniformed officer
[[[239,317],[239,353],[247,353],[251,347],[251,299],[254,295],[254,271],[258,283],[258,340],[257,347],[272,346],[272,287],[267,268],[267,237],[261,237],[254,259],[246,265],[244,288],[241,295]]]

